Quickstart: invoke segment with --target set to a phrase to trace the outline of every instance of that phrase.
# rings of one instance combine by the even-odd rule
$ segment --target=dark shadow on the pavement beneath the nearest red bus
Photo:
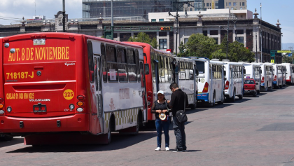
[[[122,148],[139,144],[141,141],[146,141],[156,137],[156,132],[139,132],[136,136],[128,134],[112,134],[111,144],[109,145],[48,145],[48,146],[28,146],[20,148],[15,151],[9,151],[7,153],[50,153],[50,152],[89,152],[89,151],[113,151]],[[23,141],[23,139],[22,139]]]

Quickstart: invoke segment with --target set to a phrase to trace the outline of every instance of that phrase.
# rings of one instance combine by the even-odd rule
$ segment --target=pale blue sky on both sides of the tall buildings
[[[254,13],[256,8],[260,13],[260,3],[262,20],[272,25],[276,25],[279,20],[283,33],[282,43],[294,43],[294,0],[247,0],[247,9]],[[35,10],[36,15],[52,19],[58,11],[62,11],[62,0],[0,0],[0,24],[10,25],[10,22],[21,20],[22,17],[32,18]],[[69,19],[82,18],[82,0],[65,0],[65,11]]]

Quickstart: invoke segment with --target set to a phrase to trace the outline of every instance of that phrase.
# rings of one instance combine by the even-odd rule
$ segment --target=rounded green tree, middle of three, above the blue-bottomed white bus
[[[192,34],[186,43],[186,56],[191,57],[210,57],[216,50],[216,40],[203,34]]]

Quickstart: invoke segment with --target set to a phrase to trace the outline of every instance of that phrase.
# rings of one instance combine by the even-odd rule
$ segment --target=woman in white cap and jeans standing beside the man
[[[167,108],[167,99],[165,92],[158,91],[158,100],[153,103],[151,113],[155,113],[155,126],[158,132],[158,147],[155,151],[161,150],[162,129],[165,132],[165,151],[169,151],[169,109]]]

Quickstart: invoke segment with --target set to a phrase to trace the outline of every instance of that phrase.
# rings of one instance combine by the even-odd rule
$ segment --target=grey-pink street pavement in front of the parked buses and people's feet
[[[187,113],[186,152],[155,152],[154,129],[115,133],[109,145],[33,147],[15,137],[0,142],[0,165],[294,165],[294,86]],[[172,126],[169,137],[174,148]]]

